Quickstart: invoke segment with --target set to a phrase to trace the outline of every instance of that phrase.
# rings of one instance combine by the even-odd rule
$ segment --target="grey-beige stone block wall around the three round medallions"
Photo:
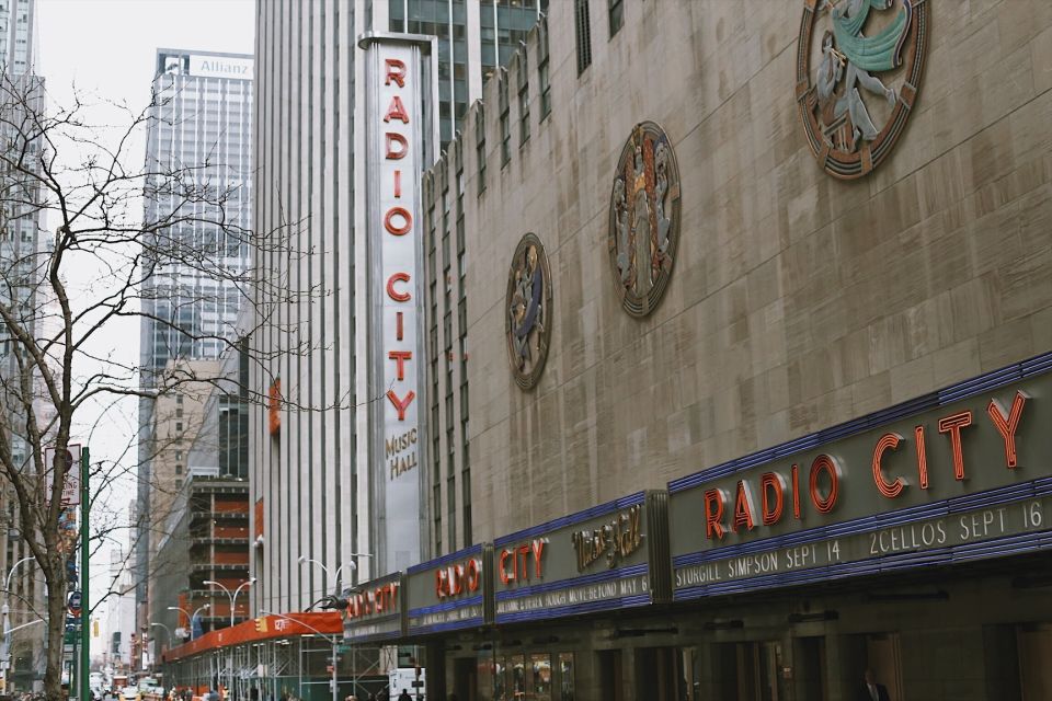
[[[552,112],[526,46],[530,138],[502,168],[498,85],[461,136],[473,541],[864,415],[1052,348],[1052,3],[931,2],[914,112],[890,158],[824,173],[794,94],[801,2],[593,0],[578,74],[573,3],[551,3]],[[670,288],[630,318],[607,249],[632,126],[676,152]],[[453,160],[436,168],[449,169]],[[536,388],[505,347],[510,258],[547,246],[553,329]],[[468,541],[470,542],[470,541]]]

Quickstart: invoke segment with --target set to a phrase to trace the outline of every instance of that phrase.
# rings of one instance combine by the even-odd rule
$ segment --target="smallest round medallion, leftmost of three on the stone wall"
[[[507,272],[504,335],[515,383],[537,384],[551,340],[551,271],[545,246],[533,233],[518,242]]]

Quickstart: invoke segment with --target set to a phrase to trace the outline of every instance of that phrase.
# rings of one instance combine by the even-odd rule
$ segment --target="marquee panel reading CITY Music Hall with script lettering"
[[[667,600],[666,504],[664,491],[639,492],[496,539],[495,622]]]

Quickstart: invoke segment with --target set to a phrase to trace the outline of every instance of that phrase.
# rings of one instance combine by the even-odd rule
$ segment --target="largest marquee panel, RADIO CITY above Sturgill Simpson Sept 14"
[[[674,598],[1044,543],[1042,368],[1021,364],[670,483]]]

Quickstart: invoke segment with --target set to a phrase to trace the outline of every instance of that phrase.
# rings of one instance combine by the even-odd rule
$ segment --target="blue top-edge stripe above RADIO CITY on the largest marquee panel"
[[[980,375],[976,378],[958,382],[957,384],[951,384],[941,390],[928,392],[927,394],[923,394],[907,402],[902,402],[901,404],[895,404],[889,409],[883,409],[859,418],[854,418],[851,421],[837,424],[836,426],[824,428],[816,433],[788,440],[773,448],[765,448],[764,450],[750,453],[745,457],[730,460],[711,468],[706,468],[699,472],[695,472],[694,474],[679,478],[678,480],[673,480],[668,483],[668,493],[675,494],[676,492],[683,492],[706,482],[718,480],[729,474],[734,474],[741,470],[755,468],[757,466],[771,462],[776,459],[803,452],[804,450],[813,450],[814,448],[833,443],[834,440],[841,440],[842,438],[854,436],[855,434],[860,434],[866,430],[871,430],[894,421],[914,416],[922,412],[937,409],[946,404],[959,402],[963,399],[982,394],[983,392],[988,392],[991,390],[1005,387],[1006,384],[1011,384],[1013,382],[1027,377],[1042,375],[1049,371],[1052,371],[1052,353],[1034,356],[1021,363],[1016,363],[1014,365],[986,372],[985,375]]]

